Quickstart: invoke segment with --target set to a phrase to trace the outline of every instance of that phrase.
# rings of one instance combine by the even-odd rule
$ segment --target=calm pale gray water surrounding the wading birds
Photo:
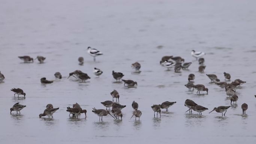
[[[0,143],[253,143],[256,140],[256,2],[253,0],[173,0],[173,1],[0,1]],[[97,48],[104,55],[92,61],[86,48]],[[162,46],[162,48],[158,48]],[[198,73],[192,49],[204,51],[205,73]],[[44,64],[24,64],[18,56],[46,57]],[[182,56],[193,62],[189,71],[174,73],[159,65],[164,55]],[[83,56],[85,64],[78,65]],[[141,73],[131,64],[140,62]],[[100,78],[94,67],[103,70]],[[68,73],[82,70],[91,76],[86,83],[67,79]],[[124,79],[138,82],[137,88],[115,83],[112,70]],[[60,71],[63,79],[55,80]],[[205,74],[223,72],[231,80],[247,83],[237,89],[236,105],[226,116],[214,107],[230,105],[225,90],[209,83]],[[204,84],[209,94],[196,95],[184,86],[194,73],[195,84]],[[40,78],[55,80],[42,85]],[[26,98],[13,97],[11,88],[22,88]],[[123,120],[103,117],[99,122],[92,108],[105,108],[100,102],[112,100],[116,89]],[[186,99],[209,108],[202,116],[185,113]],[[142,111],[140,122],[129,119],[135,100]],[[154,118],[150,106],[177,101],[161,118]],[[21,114],[10,114],[16,102],[27,105]],[[87,112],[78,119],[66,110],[78,102]],[[242,114],[241,104],[249,109]],[[39,118],[46,104],[60,107],[53,119]],[[164,111],[164,110],[163,110]]]

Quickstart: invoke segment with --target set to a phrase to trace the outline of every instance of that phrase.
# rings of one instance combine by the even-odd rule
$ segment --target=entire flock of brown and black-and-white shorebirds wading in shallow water
[[[103,53],[101,53],[99,50],[92,49],[91,47],[88,47],[87,52],[89,53],[89,55],[93,56],[94,61],[95,61],[96,56],[103,55]],[[204,58],[202,58],[202,57],[205,55],[205,53],[192,50],[191,55],[193,57],[195,57],[196,60],[199,58],[198,59],[198,62],[199,62],[198,71],[200,73],[204,73],[204,69],[205,69],[206,66],[204,65]],[[34,59],[31,58],[30,56],[19,56],[19,58],[22,59],[24,62],[33,62],[34,61]],[[37,56],[36,59],[38,59],[38,61],[40,63],[43,63],[46,58],[43,57],[43,56]],[[83,61],[84,61],[83,57],[79,57],[78,61],[79,61],[80,65],[83,65]],[[187,62],[186,63],[184,61],[185,60],[180,56],[176,56],[176,57],[174,57],[174,56],[163,56],[161,61],[160,61],[160,64],[162,66],[166,67],[167,70],[170,70],[171,68],[174,68],[174,72],[179,73],[181,70],[188,70],[189,66],[192,64],[192,62]],[[141,65],[138,62],[135,62],[131,66],[132,66],[132,68],[135,69],[135,72],[140,73]],[[101,71],[98,68],[94,68],[93,73],[96,76],[99,77],[103,73],[103,71]],[[220,82],[220,80],[217,78],[217,76],[215,74],[206,74],[206,75],[209,77],[211,82],[214,82],[220,88],[225,88],[226,95],[228,95],[229,97],[231,96],[231,98],[230,98],[231,104],[232,104],[232,102],[234,104],[234,102],[238,101],[238,96],[235,94],[235,92],[236,92],[235,88],[237,88],[237,86],[241,86],[241,84],[246,83],[246,82],[244,82],[243,80],[240,80],[240,79],[236,79],[231,83],[227,83],[228,81],[231,80],[231,75],[228,74],[228,73],[225,73],[225,72],[224,72],[225,82]],[[54,74],[54,76],[57,79],[62,78],[60,72],[56,72]],[[90,79],[88,74],[83,73],[80,70],[76,70],[74,72],[69,73],[68,78],[70,76],[73,76],[76,79],[78,78],[78,79],[82,80],[82,82],[85,82],[86,80]],[[113,76],[114,79],[116,79],[116,81],[122,80],[124,82],[124,86],[125,85],[127,85],[128,87],[137,86],[137,82],[135,82],[133,80],[124,80],[124,79],[122,79],[124,74],[122,74],[120,72],[112,71],[112,76]],[[197,90],[196,94],[198,94],[198,93],[200,94],[200,91],[206,91],[207,94],[208,94],[208,88],[205,88],[204,85],[201,85],[201,84],[194,85],[193,84],[194,79],[195,79],[195,75],[194,74],[189,74],[188,83],[185,85],[189,89],[189,91],[191,91],[191,89],[193,88],[193,90],[194,89]],[[3,80],[4,80],[4,75],[1,74],[1,72],[0,72],[0,82],[3,81]],[[46,78],[43,77],[43,78],[41,78],[41,83],[48,84],[48,83],[53,83],[53,81],[46,80]],[[14,96],[15,95],[18,95],[18,96],[19,95],[24,95],[24,97],[25,97],[25,95],[26,95],[25,92],[20,88],[13,88],[13,89],[11,89],[11,91],[13,91],[15,93]],[[126,105],[119,104],[119,93],[118,93],[118,91],[113,90],[112,92],[110,92],[110,95],[113,98],[112,101],[101,102],[101,104],[103,104],[106,107],[106,110],[96,109],[96,108],[93,108],[93,110],[92,110],[93,113],[95,113],[99,117],[101,117],[101,121],[102,121],[103,116],[107,116],[108,114],[110,116],[112,116],[112,114],[110,113],[110,107],[112,107],[111,112],[115,116],[115,117],[114,116],[112,116],[112,117],[114,119],[119,119],[119,117],[121,117],[121,119],[122,119],[123,114],[122,114],[121,110],[122,110],[122,108],[126,107]],[[255,95],[255,97],[256,97],[256,95]],[[114,98],[116,98],[116,102],[114,102]],[[154,117],[155,117],[155,112],[156,112],[156,117],[158,117],[158,113],[161,117],[161,109],[165,109],[166,111],[168,111],[168,108],[170,106],[174,105],[175,103],[176,102],[166,101],[166,102],[163,102],[162,104],[159,104],[159,105],[154,104],[153,106],[151,106],[152,110],[154,111]],[[208,108],[205,108],[201,105],[196,104],[191,99],[186,99],[185,106],[189,108],[187,110],[187,111],[189,111],[189,113],[192,113],[192,110],[194,110],[194,111],[197,111],[199,113],[199,115],[202,114],[203,111],[208,110]],[[19,103],[16,103],[16,104],[13,105],[12,108],[10,108],[10,113],[12,113],[12,111],[16,111],[16,113],[18,114],[18,111],[20,113],[20,110],[22,110],[24,107],[26,107],[26,105],[21,105]],[[212,111],[215,110],[217,113],[222,113],[222,116],[223,116],[223,113],[224,112],[226,113],[226,111],[229,107],[230,106],[214,107]],[[107,108],[109,108],[109,110],[107,110]],[[141,113],[140,110],[138,110],[138,103],[133,101],[132,102],[132,108],[134,109],[134,113],[132,114],[132,117],[135,116],[135,120],[138,117],[138,120],[140,120],[140,117],[141,117],[142,113]],[[248,108],[248,105],[246,103],[244,103],[244,104],[241,105],[241,108],[242,108],[243,114],[245,114],[246,110]],[[44,112],[42,114],[39,114],[39,117],[48,116],[50,118],[50,116],[51,116],[53,118],[52,114],[55,113],[55,111],[57,111],[58,109],[59,108],[54,108],[52,104],[47,104],[46,109],[44,110]],[[211,113],[212,111],[210,111],[209,113]],[[72,108],[67,107],[67,112],[72,114],[74,117],[78,117],[78,115],[80,115],[81,113],[85,113],[85,117],[86,117],[86,112],[87,111],[83,110],[80,107],[80,105],[78,103],[76,103],[76,104],[73,104]],[[225,116],[225,113],[224,113],[224,116]]]

